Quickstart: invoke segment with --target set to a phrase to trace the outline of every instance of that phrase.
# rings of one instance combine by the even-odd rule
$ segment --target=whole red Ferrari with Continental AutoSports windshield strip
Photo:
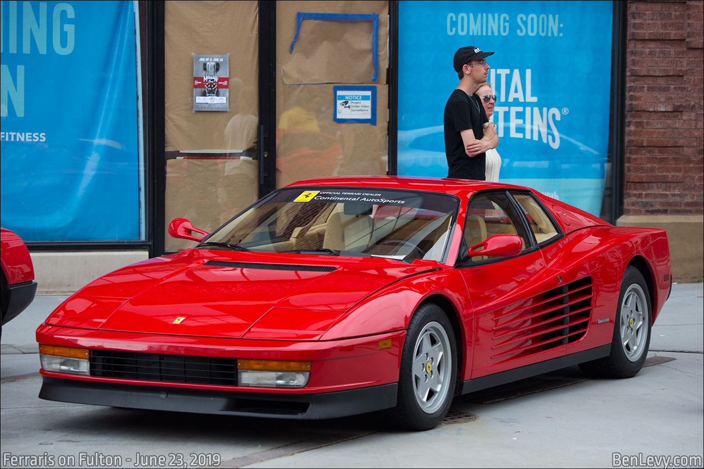
[[[453,396],[579,364],[633,376],[670,293],[662,230],[526,187],[339,177],[99,278],[37,330],[54,401],[424,430]]]

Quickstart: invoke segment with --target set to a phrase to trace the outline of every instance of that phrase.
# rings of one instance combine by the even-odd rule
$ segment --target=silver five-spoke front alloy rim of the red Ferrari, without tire
[[[413,347],[413,394],[425,413],[434,413],[450,392],[452,349],[445,328],[427,323]]]

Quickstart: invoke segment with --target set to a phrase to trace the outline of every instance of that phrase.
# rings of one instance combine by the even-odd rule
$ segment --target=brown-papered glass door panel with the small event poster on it
[[[258,2],[165,2],[165,227],[258,199]],[[165,229],[165,251],[194,245]]]

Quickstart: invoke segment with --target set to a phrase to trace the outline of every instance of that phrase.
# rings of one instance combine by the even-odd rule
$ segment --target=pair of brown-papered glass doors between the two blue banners
[[[386,174],[388,11],[164,2],[166,252],[194,245],[168,236],[174,218],[210,232],[291,182]]]

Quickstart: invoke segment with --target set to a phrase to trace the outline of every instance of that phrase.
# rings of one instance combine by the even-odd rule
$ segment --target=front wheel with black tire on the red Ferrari
[[[430,430],[450,408],[456,380],[457,344],[452,325],[442,308],[422,304],[410,320],[403,343],[396,408],[386,415],[405,430]]]

